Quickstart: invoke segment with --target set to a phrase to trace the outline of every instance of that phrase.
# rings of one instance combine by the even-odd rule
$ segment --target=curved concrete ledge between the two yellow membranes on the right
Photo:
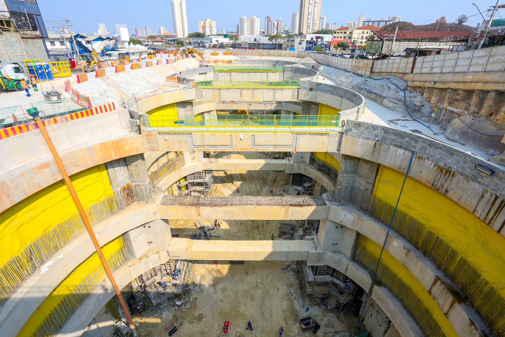
[[[331,205],[328,211],[328,220],[358,231],[379,246],[384,243],[387,227],[354,207]],[[354,237],[348,237],[348,241],[348,243],[342,243],[341,247],[352,246]],[[489,334],[477,313],[460,300],[450,281],[406,239],[390,231],[384,249],[421,283],[459,336],[470,337]],[[344,254],[346,253],[348,252]]]

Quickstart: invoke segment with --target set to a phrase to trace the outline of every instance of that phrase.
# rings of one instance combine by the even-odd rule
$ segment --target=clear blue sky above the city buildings
[[[399,15],[402,21],[415,24],[434,22],[444,15],[448,22],[457,19],[458,15],[477,14],[475,6],[470,0],[425,0],[414,2],[407,0],[361,0],[361,1],[336,1],[321,0],[321,14],[326,16],[326,22],[345,25],[347,21],[356,21],[359,14],[364,14],[365,19],[387,19],[390,15]],[[473,0],[472,0],[473,1]],[[481,11],[494,5],[495,0],[478,2]],[[212,4],[212,5],[211,5]],[[85,2],[39,0],[38,6],[44,21],[68,18],[72,21],[75,32],[96,32],[99,23],[104,23],[111,33],[116,31],[116,23],[126,23],[130,34],[135,33],[135,28],[147,26],[158,33],[158,26],[165,26],[170,33],[174,32],[172,22],[172,6],[170,0],[161,1],[111,1],[87,0]],[[198,31],[198,21],[210,18],[216,21],[217,29],[235,31],[238,18],[256,15],[260,18],[261,29],[264,29],[265,16],[273,19],[282,18],[289,26],[292,12],[298,12],[297,0],[186,0],[189,32]],[[93,9],[93,10],[91,10]],[[94,11],[94,12],[93,12]],[[480,23],[480,15],[470,18],[468,24],[475,26]],[[51,22],[46,23],[46,28],[53,29]]]

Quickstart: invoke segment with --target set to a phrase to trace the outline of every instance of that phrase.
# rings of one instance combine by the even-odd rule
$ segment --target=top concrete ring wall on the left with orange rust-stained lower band
[[[67,172],[72,175],[111,160],[144,151],[142,136],[132,133],[127,109],[118,109],[47,127]],[[62,180],[38,130],[2,140],[0,212]],[[23,181],[23,188],[19,182]]]

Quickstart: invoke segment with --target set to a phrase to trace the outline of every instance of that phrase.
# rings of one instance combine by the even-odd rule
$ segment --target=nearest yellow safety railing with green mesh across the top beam
[[[143,115],[143,131],[159,132],[341,132],[339,116],[180,115],[178,119]]]

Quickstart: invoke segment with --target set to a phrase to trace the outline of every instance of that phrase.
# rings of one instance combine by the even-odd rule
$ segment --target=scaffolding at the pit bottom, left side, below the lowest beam
[[[191,273],[191,263],[184,260],[170,260],[151,268],[130,283],[133,296],[132,310],[140,313],[154,308],[158,303],[172,299],[181,304],[180,297],[186,293],[186,285]],[[134,306],[136,305],[136,307]]]

